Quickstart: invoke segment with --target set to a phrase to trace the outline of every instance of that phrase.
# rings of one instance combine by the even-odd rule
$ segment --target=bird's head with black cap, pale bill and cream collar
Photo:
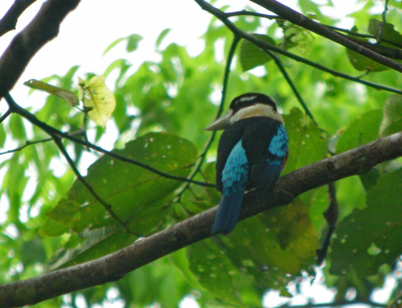
[[[205,130],[223,130],[239,120],[251,117],[267,117],[283,123],[270,97],[261,93],[245,93],[235,97],[230,103],[228,113],[215,120]]]

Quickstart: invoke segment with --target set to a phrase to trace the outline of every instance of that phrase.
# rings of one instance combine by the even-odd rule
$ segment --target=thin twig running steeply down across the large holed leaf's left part
[[[126,230],[127,233],[129,234],[134,234],[128,227],[128,223],[121,220],[120,217],[112,210],[112,206],[105,202],[103,198],[101,198],[96,191],[92,188],[92,186],[85,180],[85,178],[81,175],[81,173],[78,171],[77,167],[75,166],[74,161],[71,159],[70,155],[67,153],[66,149],[64,148],[63,144],[61,143],[60,137],[51,134],[54,142],[56,143],[57,147],[59,148],[61,154],[63,154],[64,158],[67,160],[67,163],[70,165],[72,171],[74,172],[75,176],[78,178],[78,180],[82,183],[82,185],[85,186],[85,188],[89,191],[89,193],[95,198],[96,201],[98,201],[102,206],[105,208],[105,210],[119,223],[121,224],[124,229]]]

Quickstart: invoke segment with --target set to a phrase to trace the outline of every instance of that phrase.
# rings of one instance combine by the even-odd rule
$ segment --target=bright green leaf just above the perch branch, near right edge
[[[374,109],[357,118],[340,136],[337,152],[345,152],[378,138],[382,112]]]

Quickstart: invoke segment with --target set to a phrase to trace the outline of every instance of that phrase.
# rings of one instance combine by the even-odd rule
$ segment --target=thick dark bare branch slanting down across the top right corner
[[[280,17],[288,20],[289,22],[295,25],[313,31],[314,33],[317,33],[323,37],[326,37],[327,39],[330,39],[338,44],[341,44],[346,48],[349,48],[350,50],[353,50],[363,56],[366,56],[367,58],[370,58],[380,64],[393,68],[394,70],[397,70],[399,72],[402,72],[402,64],[393,61],[391,59],[388,59],[387,57],[384,57],[383,55],[380,55],[375,51],[372,51],[360,44],[357,44],[349,40],[348,37],[345,37],[331,29],[328,29],[327,27],[315,22],[314,20],[311,20],[310,18],[304,16],[303,14],[300,14],[282,5],[281,3],[275,0],[251,0],[251,1],[279,15]]]

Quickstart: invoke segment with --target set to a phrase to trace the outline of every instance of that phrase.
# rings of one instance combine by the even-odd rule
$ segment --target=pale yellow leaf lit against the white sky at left
[[[89,110],[88,115],[96,125],[105,127],[116,107],[113,92],[105,84],[105,76],[93,76],[87,84],[79,78],[79,97]]]

